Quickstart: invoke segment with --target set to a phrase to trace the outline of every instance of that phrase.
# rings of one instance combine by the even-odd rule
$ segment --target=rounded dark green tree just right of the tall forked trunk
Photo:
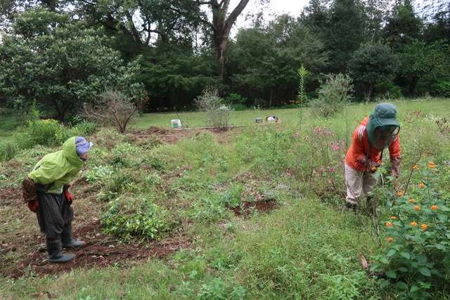
[[[326,63],[321,41],[289,15],[280,15],[268,25],[240,29],[229,57],[233,92],[265,98],[269,106],[295,99],[297,70],[302,65],[317,74]]]

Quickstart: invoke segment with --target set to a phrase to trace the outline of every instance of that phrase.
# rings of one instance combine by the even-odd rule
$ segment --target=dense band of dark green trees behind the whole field
[[[142,112],[191,110],[212,85],[240,107],[290,107],[330,74],[354,101],[450,95],[449,1],[310,0],[231,37],[250,1],[267,2],[2,0],[0,107],[64,121],[113,89]]]

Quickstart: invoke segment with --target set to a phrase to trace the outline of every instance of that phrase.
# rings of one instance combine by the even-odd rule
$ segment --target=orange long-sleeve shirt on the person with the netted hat
[[[352,136],[352,145],[350,146],[349,150],[347,151],[347,155],[345,155],[345,162],[351,167],[352,169],[356,169],[359,171],[366,171],[366,167],[364,167],[362,164],[360,164],[358,161],[362,157],[367,155],[367,152],[369,151],[369,145],[370,142],[368,141],[366,126],[368,122],[368,118],[366,117],[362,122],[359,123],[359,126],[356,127],[356,129],[353,132]],[[401,156],[401,150],[400,150],[400,140],[399,137],[395,139],[391,143],[391,145],[388,147],[389,149],[389,156],[390,157],[399,157]],[[374,162],[378,162],[378,164],[381,164],[381,151],[377,148],[371,146],[370,147],[371,152],[369,153],[369,158],[372,159]]]

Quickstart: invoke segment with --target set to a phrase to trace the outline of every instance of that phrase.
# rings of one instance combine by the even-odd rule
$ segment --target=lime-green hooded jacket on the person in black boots
[[[63,185],[81,171],[84,162],[75,150],[75,136],[63,144],[63,150],[49,153],[34,166],[28,177],[37,183],[37,189],[44,193],[62,193]]]

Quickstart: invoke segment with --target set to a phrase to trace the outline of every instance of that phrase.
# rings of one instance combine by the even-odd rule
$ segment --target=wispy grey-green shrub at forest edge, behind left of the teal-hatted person
[[[352,79],[344,74],[327,74],[325,82],[317,92],[319,98],[311,100],[311,113],[314,117],[332,117],[341,112],[352,100]]]

